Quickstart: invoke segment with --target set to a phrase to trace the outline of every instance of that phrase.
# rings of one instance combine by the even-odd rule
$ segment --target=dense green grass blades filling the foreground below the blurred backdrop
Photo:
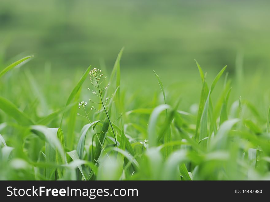
[[[201,93],[192,109],[182,105],[191,99],[180,95],[183,88],[167,87],[159,69],[138,77],[148,96],[127,92],[122,52],[111,74],[90,75],[90,66],[70,76],[67,88],[60,79],[53,86],[39,80],[27,64],[13,69],[29,57],[2,68],[1,180],[269,180],[270,109],[241,100],[241,90],[231,96],[238,85],[226,66],[209,88],[194,63]],[[145,86],[147,77],[156,85]],[[237,78],[244,88],[243,71]]]

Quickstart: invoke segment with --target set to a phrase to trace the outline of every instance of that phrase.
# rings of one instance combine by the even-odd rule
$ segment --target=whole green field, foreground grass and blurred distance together
[[[269,180],[268,7],[2,0],[0,179]]]

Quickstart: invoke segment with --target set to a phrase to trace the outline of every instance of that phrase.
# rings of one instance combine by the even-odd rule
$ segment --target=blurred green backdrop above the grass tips
[[[70,86],[69,92],[90,64],[109,72],[124,46],[123,88],[152,99],[153,89],[159,92],[155,70],[166,89],[174,86],[183,106],[190,106],[199,101],[201,88],[194,59],[211,82],[224,65],[234,77],[238,57],[245,81],[266,86],[269,6],[262,0],[1,0],[0,62],[6,66],[33,54],[27,66],[39,81],[49,66],[50,83]],[[253,99],[256,88],[242,89],[241,95]],[[236,90],[233,95],[239,96]]]

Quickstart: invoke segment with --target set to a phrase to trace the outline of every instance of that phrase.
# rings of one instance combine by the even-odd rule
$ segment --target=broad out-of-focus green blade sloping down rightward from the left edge
[[[0,109],[8,116],[13,117],[21,125],[32,125],[34,122],[23,112],[17,109],[17,106],[4,97],[0,97]]]

